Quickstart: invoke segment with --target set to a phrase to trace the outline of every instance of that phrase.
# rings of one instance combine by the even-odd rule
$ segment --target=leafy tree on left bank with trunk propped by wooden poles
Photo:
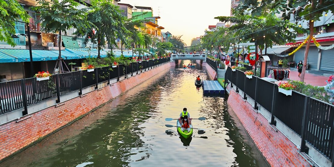
[[[31,7],[31,9],[37,11],[36,14],[40,18],[37,21],[41,22],[41,26],[46,31],[58,32],[59,34],[59,55],[54,67],[54,71],[57,66],[59,67],[59,73],[64,71],[62,62],[69,71],[66,63],[61,58],[61,32],[66,35],[66,30],[71,27],[80,30],[87,29],[90,26],[90,22],[87,21],[87,8],[77,9],[77,6],[79,6],[79,3],[74,0],[39,0],[36,6]]]

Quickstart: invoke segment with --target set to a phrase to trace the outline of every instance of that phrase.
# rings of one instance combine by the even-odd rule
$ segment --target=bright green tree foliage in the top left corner
[[[16,0],[0,0],[0,41],[15,46],[16,43],[11,37],[16,33],[15,21],[21,19],[23,22],[29,22],[29,17]]]

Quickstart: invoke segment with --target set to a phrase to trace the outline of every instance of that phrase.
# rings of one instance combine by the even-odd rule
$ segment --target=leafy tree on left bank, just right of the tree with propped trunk
[[[84,43],[89,40],[98,45],[98,58],[101,58],[101,47],[108,42],[109,45],[117,45],[117,38],[126,41],[128,30],[125,28],[125,17],[119,6],[112,1],[91,1],[91,11],[88,13],[88,20],[93,24],[90,28],[80,29],[75,33],[76,37],[85,36]],[[94,30],[96,29],[96,31]]]

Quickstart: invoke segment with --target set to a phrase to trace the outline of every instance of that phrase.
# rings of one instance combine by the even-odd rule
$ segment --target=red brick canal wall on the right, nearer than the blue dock
[[[268,120],[256,113],[252,105],[244,101],[229,86],[227,104],[271,166],[311,166],[298,152],[297,146],[281,131],[276,132]]]

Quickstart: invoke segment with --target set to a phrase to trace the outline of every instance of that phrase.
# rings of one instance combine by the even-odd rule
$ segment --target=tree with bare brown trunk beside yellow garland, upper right
[[[310,38],[307,41],[304,67],[300,78],[301,81],[304,81],[308,52],[314,34],[314,21],[320,21],[320,17],[322,17],[323,13],[327,13],[329,10],[334,14],[333,0],[252,0],[240,4],[237,10],[251,10],[252,16],[259,16],[263,13],[270,12],[282,13],[283,19],[287,20],[290,20],[291,15],[296,16],[296,21],[301,21],[301,19],[308,20]]]

